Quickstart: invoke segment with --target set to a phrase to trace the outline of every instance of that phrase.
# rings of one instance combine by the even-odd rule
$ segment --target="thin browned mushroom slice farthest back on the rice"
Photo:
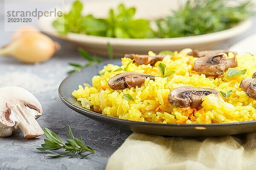
[[[229,52],[232,52],[232,51],[228,51],[228,50],[209,50],[209,51],[193,50],[193,51],[189,52],[187,55],[194,56],[194,57],[212,57],[212,56],[218,55],[219,53],[228,54]],[[234,55],[237,55],[236,52],[232,52],[232,53]]]

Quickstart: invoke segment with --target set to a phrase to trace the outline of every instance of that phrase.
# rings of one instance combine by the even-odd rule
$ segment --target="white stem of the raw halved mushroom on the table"
[[[44,131],[35,120],[35,116],[22,105],[17,105],[12,111],[19,120],[18,127],[23,132],[24,138],[31,139],[44,134]]]

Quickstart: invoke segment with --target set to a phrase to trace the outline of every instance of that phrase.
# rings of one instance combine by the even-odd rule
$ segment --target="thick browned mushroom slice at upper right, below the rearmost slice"
[[[226,58],[224,55],[200,57],[194,62],[194,70],[206,75],[221,75],[228,68],[237,66],[236,57]]]

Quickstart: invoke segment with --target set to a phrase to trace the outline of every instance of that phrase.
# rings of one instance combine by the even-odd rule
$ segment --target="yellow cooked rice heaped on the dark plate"
[[[232,53],[226,55],[233,56]],[[109,88],[108,80],[125,71],[116,71],[119,66],[108,64],[99,71],[99,75],[93,77],[92,87],[84,83],[72,95],[81,101],[84,108],[93,108],[103,115],[140,122],[211,124],[256,120],[256,100],[239,88],[242,79],[251,78],[256,72],[256,56],[244,54],[236,58],[236,69],[247,69],[246,73],[224,79],[226,73],[212,77],[193,71],[193,63],[197,58],[187,56],[183,51],[175,51],[174,55],[166,56],[154,66],[136,63],[129,65],[129,72],[157,77],[155,81],[146,79],[141,87],[117,91]],[[130,61],[130,58],[122,58],[121,68],[125,68]],[[157,68],[160,62],[166,64],[166,70],[175,71],[175,74],[162,78]],[[198,110],[190,107],[175,108],[168,102],[168,95],[170,91],[181,86],[213,88],[224,92],[232,90],[233,93],[228,99],[221,94],[218,97],[205,96],[202,99],[202,108]],[[124,94],[133,96],[134,101],[126,100]]]

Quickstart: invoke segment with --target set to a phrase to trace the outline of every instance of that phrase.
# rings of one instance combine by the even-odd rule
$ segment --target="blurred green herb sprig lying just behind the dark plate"
[[[78,63],[69,63],[70,66],[73,66],[73,69],[68,71],[67,74],[71,74],[73,72],[79,71],[83,68],[89,67],[91,65],[95,65],[97,63],[101,63],[102,59],[96,55],[90,55],[87,51],[83,48],[78,48],[79,54],[88,62],[85,65],[81,65]],[[113,59],[113,48],[111,44],[108,42],[108,57],[109,59]]]

